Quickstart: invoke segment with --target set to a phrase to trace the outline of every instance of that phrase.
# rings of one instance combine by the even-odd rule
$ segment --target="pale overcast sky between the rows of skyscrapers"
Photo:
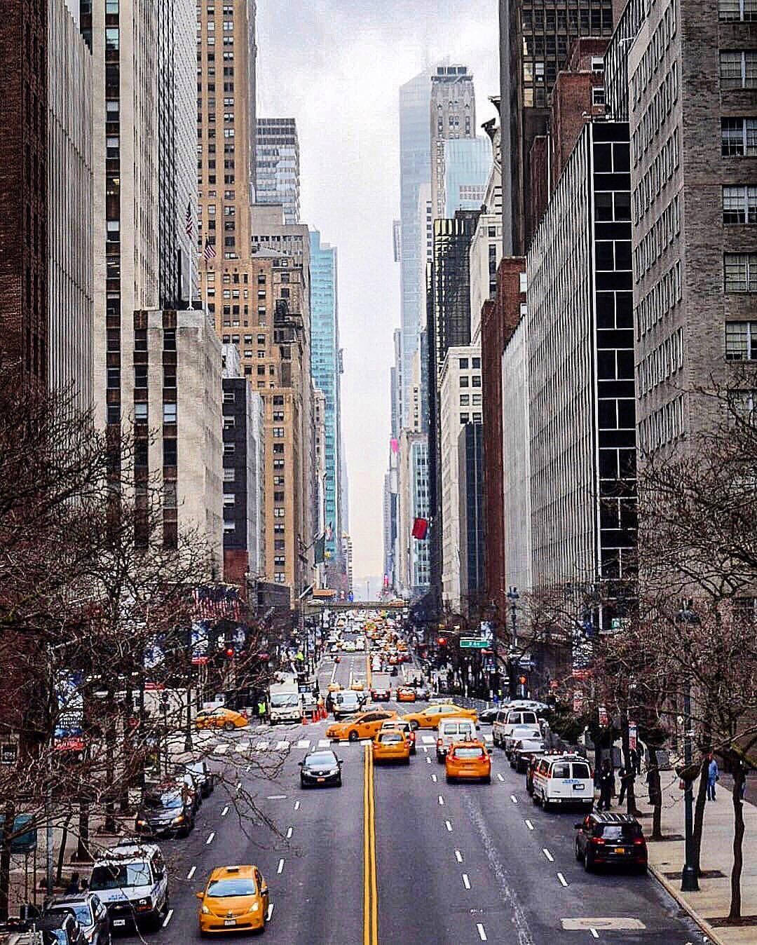
[[[473,72],[476,118],[498,94],[497,0],[257,0],[258,115],[294,116],[302,222],[338,249],[342,430],[355,581],[383,570],[400,215],[399,87],[426,63]]]

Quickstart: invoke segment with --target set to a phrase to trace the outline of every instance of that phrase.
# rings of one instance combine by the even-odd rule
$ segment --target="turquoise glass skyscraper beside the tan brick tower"
[[[326,551],[341,558],[341,393],[339,323],[336,303],[336,249],[310,232],[310,324],[313,383],[325,397]],[[331,531],[329,531],[329,527]],[[331,537],[329,537],[331,535]]]

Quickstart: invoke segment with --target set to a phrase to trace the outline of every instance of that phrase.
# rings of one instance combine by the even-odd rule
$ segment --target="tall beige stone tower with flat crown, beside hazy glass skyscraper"
[[[434,219],[445,212],[445,142],[475,137],[475,93],[473,76],[464,65],[440,65],[431,77],[430,146],[431,209]]]

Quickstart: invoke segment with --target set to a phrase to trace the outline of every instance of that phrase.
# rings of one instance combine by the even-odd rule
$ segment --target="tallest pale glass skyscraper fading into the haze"
[[[422,72],[400,87],[400,325],[402,385],[401,424],[406,419],[404,404],[412,373],[413,354],[425,323],[425,296],[422,291],[422,223],[419,195],[431,183],[431,134],[428,121],[431,101],[431,73]]]

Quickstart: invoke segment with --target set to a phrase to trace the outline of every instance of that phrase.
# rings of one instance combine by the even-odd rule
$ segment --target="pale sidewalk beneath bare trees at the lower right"
[[[724,778],[724,781],[726,779]],[[674,771],[662,771],[662,835],[680,839],[648,843],[649,866],[658,879],[677,899],[696,912],[699,919],[711,925],[705,932],[714,942],[722,945],[753,945],[757,942],[757,807],[744,804],[744,868],[741,876],[742,916],[752,917],[753,924],[722,925],[731,907],[731,867],[733,865],[733,803],[731,791],[723,782],[717,785],[717,800],[708,801],[704,812],[701,868],[705,875],[699,879],[699,892],[681,893],[680,870],[684,859],[683,792]],[[730,779],[728,779],[730,782]],[[695,801],[697,782],[695,783]],[[645,834],[652,832],[651,806],[646,793],[644,776],[636,780],[636,804],[643,813]],[[613,799],[616,801],[616,799]],[[619,812],[614,803],[612,810]],[[674,875],[675,874],[675,875]],[[723,875],[720,875],[723,874]],[[711,922],[712,920],[712,922]]]

